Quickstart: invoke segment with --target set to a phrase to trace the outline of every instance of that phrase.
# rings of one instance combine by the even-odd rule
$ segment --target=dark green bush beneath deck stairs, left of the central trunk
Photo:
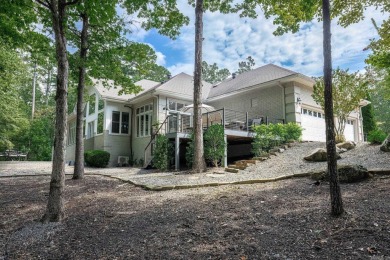
[[[157,135],[153,151],[153,166],[161,171],[169,169],[173,145],[165,135]]]

